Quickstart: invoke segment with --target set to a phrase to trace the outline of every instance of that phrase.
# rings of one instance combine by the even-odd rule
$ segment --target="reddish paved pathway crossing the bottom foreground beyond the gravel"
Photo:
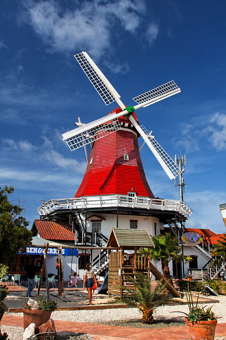
[[[183,340],[189,339],[187,326],[165,328],[135,328],[92,323],[54,320],[57,331],[72,331],[94,335],[94,340]],[[1,325],[23,327],[23,318],[3,315]],[[215,336],[226,336],[226,323],[218,323]]]

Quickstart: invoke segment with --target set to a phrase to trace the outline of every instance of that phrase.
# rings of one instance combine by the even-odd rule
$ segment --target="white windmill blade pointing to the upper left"
[[[120,96],[118,92],[114,89],[114,87],[107,80],[105,75],[96,66],[96,64],[90,58],[89,54],[83,51],[81,53],[75,54],[75,58],[77,59],[79,65],[86,73],[87,77],[89,78],[105,104],[108,105],[116,101],[121,109],[124,110],[126,106],[119,99]]]

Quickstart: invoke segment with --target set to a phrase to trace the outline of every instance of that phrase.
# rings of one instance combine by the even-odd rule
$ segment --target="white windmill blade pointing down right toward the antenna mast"
[[[129,120],[134,125],[139,134],[144,138],[148,147],[153,152],[154,156],[157,158],[158,162],[161,164],[169,178],[175,179],[177,175],[182,173],[178,166],[173,162],[172,158],[166,153],[166,151],[158,144],[153,136],[145,129],[144,126],[139,126],[135,119],[130,116]]]

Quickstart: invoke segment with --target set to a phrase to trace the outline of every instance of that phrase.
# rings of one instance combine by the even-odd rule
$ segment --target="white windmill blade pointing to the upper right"
[[[151,91],[145,92],[143,95],[133,98],[133,100],[138,103],[138,105],[135,105],[134,108],[136,110],[140,107],[146,107],[179,92],[181,92],[181,89],[172,80],[169,83],[163,84]]]

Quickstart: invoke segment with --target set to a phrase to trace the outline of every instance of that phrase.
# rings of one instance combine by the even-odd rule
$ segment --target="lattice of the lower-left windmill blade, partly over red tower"
[[[79,149],[84,145],[91,144],[93,141],[110,135],[111,133],[120,130],[121,126],[118,119],[95,126],[95,128],[86,130],[85,132],[77,133],[76,135],[65,139],[71,151]],[[77,130],[77,129],[76,129]]]

